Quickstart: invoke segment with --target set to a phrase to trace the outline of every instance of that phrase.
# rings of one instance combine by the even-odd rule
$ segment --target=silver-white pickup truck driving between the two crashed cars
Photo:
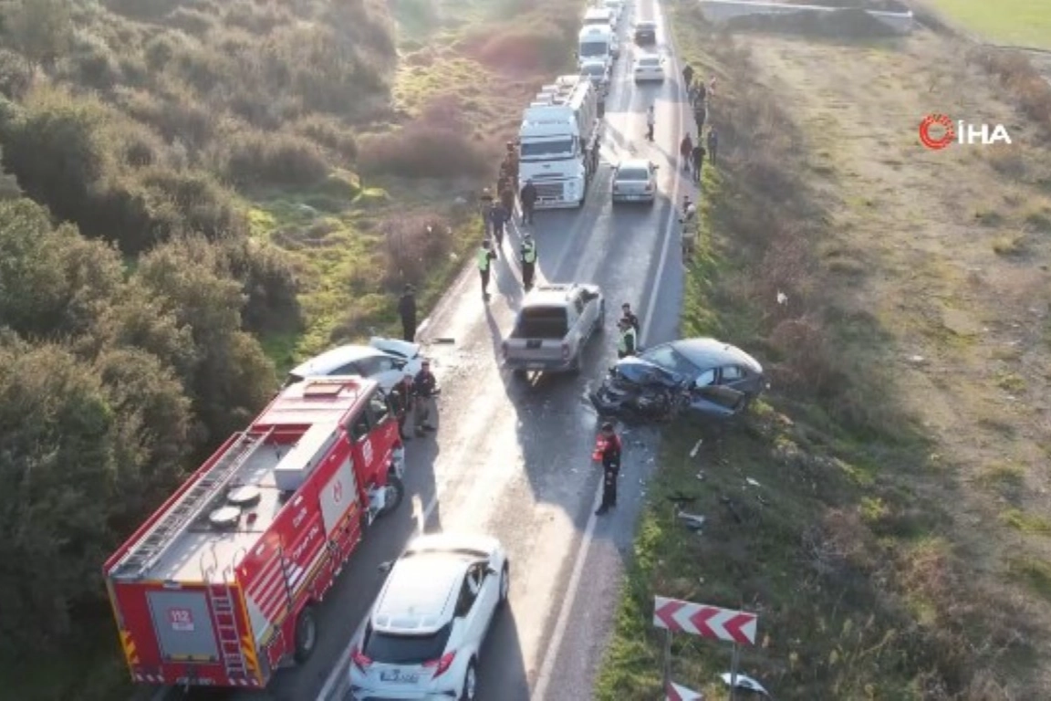
[[[576,372],[588,341],[605,325],[605,298],[596,285],[541,285],[530,292],[503,341],[503,364],[530,370]]]

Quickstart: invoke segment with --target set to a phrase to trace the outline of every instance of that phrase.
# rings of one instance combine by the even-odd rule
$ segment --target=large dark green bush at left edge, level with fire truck
[[[0,646],[40,650],[98,600],[111,537],[116,416],[94,370],[58,346],[0,347]]]

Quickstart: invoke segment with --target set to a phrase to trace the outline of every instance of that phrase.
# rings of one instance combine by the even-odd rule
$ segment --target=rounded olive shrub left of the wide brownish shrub
[[[312,185],[329,171],[321,147],[287,132],[238,132],[223,160],[227,178],[241,186]]]

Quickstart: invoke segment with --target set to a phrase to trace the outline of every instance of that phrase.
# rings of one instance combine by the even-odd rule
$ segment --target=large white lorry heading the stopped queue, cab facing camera
[[[537,209],[580,207],[598,169],[599,95],[580,76],[556,85],[559,91],[541,92],[526,108],[518,129],[518,180],[533,181]]]

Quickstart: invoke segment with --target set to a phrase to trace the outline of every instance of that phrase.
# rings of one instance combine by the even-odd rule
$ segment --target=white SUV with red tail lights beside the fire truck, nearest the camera
[[[355,701],[473,701],[486,634],[511,571],[496,538],[425,535],[392,563],[350,654]]]

